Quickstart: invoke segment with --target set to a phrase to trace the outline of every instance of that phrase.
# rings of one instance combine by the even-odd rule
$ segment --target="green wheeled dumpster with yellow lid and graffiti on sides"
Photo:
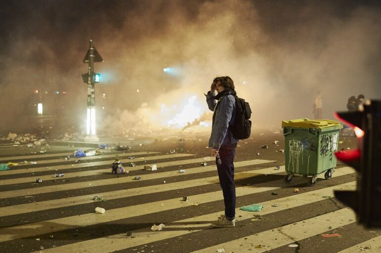
[[[338,149],[339,129],[342,125],[331,120],[299,119],[282,121],[285,136],[285,182],[294,175],[311,176],[315,185],[319,174],[330,179],[336,167],[334,152]]]

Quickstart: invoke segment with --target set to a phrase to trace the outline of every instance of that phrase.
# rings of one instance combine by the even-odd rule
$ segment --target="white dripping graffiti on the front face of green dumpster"
[[[288,142],[289,146],[289,160],[288,160],[288,168],[292,168],[292,171],[295,173],[299,173],[299,164],[307,163],[307,174],[310,165],[310,154],[308,154],[308,150],[304,149],[304,145],[301,141],[292,139]],[[304,160],[307,161],[304,161]]]

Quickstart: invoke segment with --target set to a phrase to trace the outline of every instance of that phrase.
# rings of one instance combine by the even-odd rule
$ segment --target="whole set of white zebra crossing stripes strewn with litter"
[[[112,155],[102,155],[96,159],[84,159],[84,163],[72,165],[54,165],[49,168],[40,167],[40,168],[27,168],[28,166],[24,166],[24,169],[14,169],[13,171],[0,171],[1,175],[11,175],[18,173],[30,173],[32,171],[51,171],[52,173],[56,173],[56,169],[71,169],[71,168],[84,168],[84,167],[94,167],[95,169],[86,170],[86,171],[78,171],[78,172],[68,172],[65,173],[66,178],[76,178],[77,182],[68,182],[65,184],[57,184],[57,185],[49,185],[44,186],[44,184],[39,184],[39,187],[35,188],[27,188],[27,189],[18,189],[18,190],[9,190],[1,192],[0,199],[6,201],[10,198],[19,197],[22,200],[22,197],[25,196],[30,200],[33,199],[33,203],[25,203],[12,205],[12,206],[3,206],[0,207],[0,217],[2,219],[7,219],[8,217],[12,217],[13,215],[30,215],[30,212],[47,212],[53,211],[59,208],[76,208],[76,206],[84,205],[84,211],[79,215],[71,215],[70,212],[67,212],[67,215],[59,216],[58,218],[52,218],[43,220],[40,222],[31,222],[27,224],[18,223],[17,225],[11,226],[3,226],[0,229],[0,247],[2,244],[6,243],[16,243],[18,241],[21,242],[23,238],[27,237],[39,237],[40,235],[46,234],[54,234],[60,231],[80,228],[80,227],[91,227],[96,226],[98,224],[106,224],[107,222],[115,222],[121,219],[135,218],[142,215],[156,215],[156,213],[177,210],[184,207],[191,209],[194,206],[207,205],[214,202],[220,202],[223,200],[222,192],[218,186],[217,191],[215,188],[212,191],[189,195],[189,201],[182,201],[182,196],[178,198],[171,197],[170,199],[163,200],[152,200],[145,201],[143,204],[128,206],[128,203],[125,205],[120,205],[117,208],[107,209],[103,214],[96,214],[93,210],[89,210],[90,207],[93,207],[95,201],[93,197],[95,195],[100,196],[102,198],[107,199],[107,201],[118,201],[121,198],[126,197],[134,197],[145,195],[149,196],[149,194],[155,194],[166,191],[173,191],[188,188],[202,188],[211,184],[218,184],[218,176],[216,171],[216,166],[214,163],[214,158],[192,158],[187,159],[187,156],[194,156],[192,154],[157,154],[157,152],[142,152],[141,155],[149,154],[149,156],[144,157],[143,159],[135,159],[135,160],[127,160],[124,163],[128,162],[137,162],[137,161],[146,161],[147,164],[150,162],[154,162],[157,165],[158,171],[142,171],[139,175],[134,173],[134,176],[123,175],[119,177],[113,178],[105,178],[105,179],[96,179],[97,175],[101,175],[104,173],[110,173],[110,169],[96,169],[96,166],[101,165],[109,165],[112,163],[113,158],[117,157],[117,154]],[[137,155],[137,153],[135,153]],[[57,156],[55,154],[55,156]],[[128,156],[128,154],[123,154],[123,156]],[[26,156],[25,156],[26,157]],[[50,156],[52,159],[48,159],[49,156],[41,156],[41,158],[47,158],[47,160],[42,160],[46,164],[52,163],[62,163],[66,162],[63,159],[54,159],[54,156]],[[20,157],[19,157],[20,158]],[[21,159],[21,158],[20,158]],[[107,161],[96,161],[97,159],[108,159]],[[157,161],[161,159],[176,159],[176,161],[167,161],[162,163],[157,163]],[[86,163],[85,163],[86,161]],[[197,166],[197,164],[201,162],[207,162],[207,166]],[[41,161],[40,161],[41,162]],[[264,178],[264,175],[277,174],[275,176],[283,177],[285,175],[284,166],[281,169],[276,170],[275,167],[271,167],[269,163],[274,161],[270,160],[247,160],[247,161],[239,161],[235,162],[235,168],[244,168],[244,171],[236,172],[235,180],[238,182],[240,180],[249,180],[252,182],[249,185],[237,185],[236,194],[237,198],[246,198],[251,194],[260,194],[266,192],[272,192],[276,190],[280,190],[282,188],[293,187],[294,185],[301,185],[306,182],[306,179],[303,177],[294,177],[293,180],[286,184],[283,179],[272,180],[268,182],[256,182],[256,178]],[[42,163],[41,163],[42,164]],[[186,172],[179,173],[178,170],[171,171],[160,171],[161,168],[167,168],[171,166],[180,166],[193,164],[191,168],[187,168]],[[76,167],[76,166],[81,167]],[[260,165],[260,167],[259,167]],[[249,168],[250,166],[256,166],[254,168]],[[126,166],[125,166],[126,167]],[[144,165],[139,165],[136,167],[126,167],[126,169],[140,170],[143,169]],[[19,172],[22,171],[22,172]],[[197,175],[202,172],[215,171],[216,174],[208,177],[197,178]],[[5,173],[2,173],[5,172]],[[58,171],[60,172],[60,171]],[[349,167],[338,168],[333,173],[333,180],[335,177],[343,176],[354,173],[354,169]],[[191,177],[195,176],[195,177]],[[91,181],[81,181],[85,176],[95,176],[94,180]],[[134,180],[135,176],[142,177],[139,181]],[[188,176],[190,178],[188,178]],[[49,179],[54,179],[51,175],[42,175],[39,176],[44,181]],[[200,176],[198,176],[200,177]],[[324,178],[324,174],[319,176],[320,178]],[[181,181],[170,181],[167,183],[153,184],[148,185],[145,184],[141,187],[135,187],[135,184],[139,184],[139,182],[153,180],[153,179],[162,179],[168,180],[167,178],[178,178]],[[196,178],[196,179],[194,179]],[[354,181],[354,177],[352,179],[347,178],[346,182],[340,183],[337,185],[327,185],[322,188],[316,187],[309,188],[310,190],[307,192],[300,192],[298,194],[290,195],[287,197],[279,197],[273,200],[267,200],[261,202],[260,204],[265,206],[263,210],[258,212],[258,214],[266,215],[276,212],[282,212],[293,208],[300,208],[304,205],[313,205],[314,203],[319,203],[321,201],[326,200],[327,196],[334,196],[333,191],[337,189],[342,190],[353,190],[356,187],[356,182]],[[21,183],[33,183],[35,180],[35,176],[28,177],[20,177],[15,179],[3,179],[0,180],[0,185],[6,186],[11,184],[21,184]],[[88,180],[88,179],[84,179]],[[348,181],[350,180],[350,181]],[[162,182],[162,181],[161,181]],[[255,183],[256,182],[256,183]],[[318,181],[319,182],[319,181]],[[75,189],[96,189],[94,187],[97,186],[107,186],[113,184],[127,184],[134,183],[134,188],[122,189],[114,191],[96,191],[93,193],[82,194],[80,196],[67,197],[64,199],[51,199],[51,200],[43,200],[39,201],[38,195],[45,193],[56,193],[59,191],[70,191]],[[319,184],[319,183],[318,183]],[[132,184],[131,184],[132,185]],[[111,188],[110,188],[111,189]],[[122,190],[120,190],[122,189]],[[209,188],[211,189],[211,188]],[[293,189],[293,188],[292,188]],[[292,189],[290,189],[292,191]],[[172,195],[173,196],[173,195]],[[271,196],[271,194],[269,194]],[[149,199],[149,197],[147,197]],[[331,197],[330,197],[331,198]],[[26,199],[25,199],[26,200]],[[6,202],[4,202],[6,203]],[[272,208],[271,205],[277,203],[279,206],[276,208]],[[104,202],[96,202],[98,207],[102,207],[105,205]],[[214,205],[214,204],[213,204]],[[137,250],[139,247],[143,247],[147,244],[158,244],[161,240],[175,240],[175,238],[186,238],[187,236],[191,236],[191,234],[200,234],[202,235],[207,229],[210,229],[211,221],[214,221],[219,215],[221,215],[223,211],[217,212],[206,212],[204,214],[198,214],[196,216],[188,216],[188,218],[184,218],[181,220],[175,220],[170,223],[166,223],[165,228],[162,231],[151,231],[149,227],[145,227],[140,229],[139,231],[132,231],[133,237],[129,237],[126,240],[126,234],[115,233],[113,235],[88,239],[88,240],[73,240],[61,242],[60,246],[44,249],[44,247],[40,248],[40,250],[36,248],[28,248],[29,251],[38,251],[43,253],[54,253],[54,252],[62,252],[62,253],[107,253],[129,249],[131,252],[143,252]],[[18,217],[18,216],[15,216]],[[252,212],[245,212],[239,210],[239,207],[236,209],[236,224],[239,225],[240,222],[245,222],[253,217]],[[296,241],[300,241],[307,238],[313,238],[316,235],[324,233],[328,230],[330,226],[331,229],[337,229],[343,226],[347,226],[356,222],[356,217],[353,211],[348,208],[339,209],[333,212],[327,212],[322,215],[318,215],[315,217],[309,217],[307,219],[302,220],[303,222],[295,222],[292,224],[288,224],[285,226],[274,227],[270,230],[265,230],[263,232],[258,232],[256,234],[245,236],[244,238],[238,238],[235,240],[226,239],[225,242],[221,244],[213,245],[212,247],[198,247],[195,253],[209,253],[209,252],[217,252],[217,250],[224,249],[225,252],[265,252],[270,251],[279,247],[286,246],[287,244],[295,243]],[[5,223],[6,224],[6,223]],[[16,223],[13,223],[16,224]],[[153,225],[153,224],[152,224]],[[204,231],[205,230],[205,231]],[[290,236],[292,234],[292,236]],[[21,240],[19,240],[21,239]],[[26,240],[28,241],[28,240]],[[28,244],[25,240],[23,244]],[[112,243],[110,243],[112,241]],[[358,252],[364,247],[370,247],[372,249],[381,249],[380,245],[380,235],[377,234],[376,237],[366,240],[358,245],[350,247],[348,249],[344,249],[341,253],[354,253]],[[260,247],[255,247],[260,245]],[[210,246],[210,245],[208,245]],[[142,248],[141,247],[141,248]],[[1,249],[1,248],[0,248]],[[130,251],[128,251],[130,252]],[[150,251],[145,251],[150,252]],[[189,252],[184,250],[184,252]],[[376,251],[377,252],[377,251]]]

